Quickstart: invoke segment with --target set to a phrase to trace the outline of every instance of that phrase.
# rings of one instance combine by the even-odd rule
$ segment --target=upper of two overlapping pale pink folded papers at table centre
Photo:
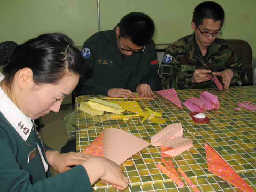
[[[162,146],[161,142],[176,137],[182,137],[183,128],[181,123],[170,124],[166,128],[159,131],[153,137],[151,137],[151,144],[153,146]]]

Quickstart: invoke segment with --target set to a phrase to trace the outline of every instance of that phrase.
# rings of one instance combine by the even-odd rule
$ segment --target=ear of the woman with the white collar
[[[20,89],[31,87],[34,84],[33,72],[30,68],[25,67],[19,71],[17,84],[20,87]]]

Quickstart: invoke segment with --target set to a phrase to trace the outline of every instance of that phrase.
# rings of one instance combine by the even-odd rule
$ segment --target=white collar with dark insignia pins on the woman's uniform
[[[0,82],[4,79],[3,74],[0,73]],[[23,140],[27,140],[33,123],[31,118],[27,117],[22,111],[11,101],[11,99],[5,94],[4,90],[0,87],[0,111],[3,113],[4,117],[9,121],[9,123],[14,127],[14,129],[19,133]],[[27,127],[29,132],[27,135],[23,133],[23,129],[20,129],[18,124],[21,121],[23,127]]]

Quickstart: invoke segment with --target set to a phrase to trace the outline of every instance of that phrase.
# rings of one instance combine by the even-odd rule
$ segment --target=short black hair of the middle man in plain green
[[[150,43],[154,33],[155,24],[146,14],[131,12],[125,15],[120,23],[121,37],[129,39],[133,44],[142,47]]]

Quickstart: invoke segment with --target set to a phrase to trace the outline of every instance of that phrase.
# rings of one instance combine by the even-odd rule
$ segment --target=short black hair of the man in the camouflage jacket
[[[221,21],[221,27],[224,23],[224,10],[218,3],[205,1],[196,6],[193,12],[192,21],[196,27],[202,25],[204,19],[212,19],[214,22]]]

